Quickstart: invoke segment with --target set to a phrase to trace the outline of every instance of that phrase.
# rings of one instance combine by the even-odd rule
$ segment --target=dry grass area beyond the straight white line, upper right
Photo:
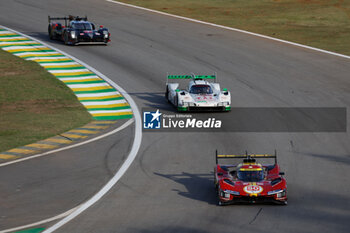
[[[350,0],[121,0],[350,55]]]

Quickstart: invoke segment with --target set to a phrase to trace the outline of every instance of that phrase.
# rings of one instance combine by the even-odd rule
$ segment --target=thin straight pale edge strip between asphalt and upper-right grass
[[[281,42],[281,43],[294,45],[294,46],[297,46],[297,47],[302,47],[302,48],[305,48],[305,49],[310,49],[310,50],[314,50],[314,51],[317,51],[317,52],[326,53],[326,54],[330,54],[330,55],[334,55],[334,56],[350,59],[350,56],[347,56],[347,55],[344,55],[344,54],[335,53],[335,52],[327,51],[327,50],[324,50],[324,49],[318,49],[318,48],[315,48],[315,47],[311,47],[311,46],[307,46],[307,45],[303,45],[303,44],[299,44],[299,43],[295,43],[295,42],[291,42],[291,41],[287,41],[287,40],[274,38],[274,37],[271,37],[271,36],[265,36],[265,35],[262,35],[262,34],[241,30],[241,29],[238,29],[238,28],[227,27],[227,26],[223,26],[223,25],[219,25],[219,24],[215,24],[215,23],[208,23],[208,22],[204,22],[204,21],[201,21],[201,20],[197,20],[197,19],[191,19],[191,18],[187,18],[187,17],[183,17],[183,16],[173,15],[173,14],[165,13],[165,12],[162,12],[162,11],[152,10],[152,9],[148,9],[148,8],[144,8],[144,7],[140,7],[140,6],[135,6],[135,5],[131,5],[131,4],[123,3],[123,2],[118,2],[118,1],[114,1],[114,0],[106,0],[106,1],[107,2],[111,2],[111,3],[115,3],[115,4],[119,4],[119,5],[123,5],[123,6],[127,6],[127,7],[136,8],[136,9],[139,9],[139,10],[149,11],[149,12],[153,12],[153,13],[157,13],[157,14],[161,14],[161,15],[166,15],[166,16],[170,16],[170,17],[174,17],[174,18],[178,18],[178,19],[182,19],[182,20],[186,20],[186,21],[191,21],[191,22],[194,22],[194,23],[200,23],[200,24],[205,24],[205,25],[209,25],[209,26],[213,26],[213,27],[227,29],[227,30],[230,30],[230,31],[241,32],[241,33],[245,33],[245,34],[248,34],[248,35],[252,35],[252,36],[256,36],[256,37],[260,37],[260,38],[264,38],[264,39],[274,40],[274,41],[278,41],[278,42]]]

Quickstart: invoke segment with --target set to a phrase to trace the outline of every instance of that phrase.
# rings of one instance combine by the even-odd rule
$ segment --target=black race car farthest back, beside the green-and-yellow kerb
[[[64,20],[64,25],[57,20]],[[107,44],[110,41],[110,33],[107,28],[95,25],[87,20],[87,17],[50,17],[49,16],[49,37],[51,40],[62,40],[65,44]]]

